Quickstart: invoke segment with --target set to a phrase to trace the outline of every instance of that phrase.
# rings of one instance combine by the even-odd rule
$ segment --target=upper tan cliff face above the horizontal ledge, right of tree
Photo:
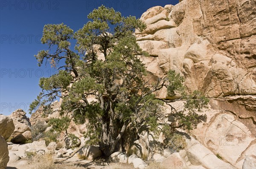
[[[146,63],[151,76],[174,69],[189,92],[210,98],[255,95],[255,10],[255,0],[183,0],[148,9],[140,18],[147,28],[136,36],[154,57]]]

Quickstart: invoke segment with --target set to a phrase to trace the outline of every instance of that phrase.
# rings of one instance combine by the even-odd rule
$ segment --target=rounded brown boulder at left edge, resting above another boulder
[[[12,135],[15,126],[10,116],[0,115],[0,129],[0,135],[6,140]]]

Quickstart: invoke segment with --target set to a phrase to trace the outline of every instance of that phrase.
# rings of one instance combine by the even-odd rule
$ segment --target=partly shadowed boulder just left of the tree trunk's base
[[[84,146],[79,150],[79,154],[86,156],[88,160],[94,160],[102,156],[98,146]]]

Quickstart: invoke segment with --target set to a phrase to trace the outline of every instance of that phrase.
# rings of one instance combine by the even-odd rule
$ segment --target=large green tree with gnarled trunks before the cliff
[[[161,130],[158,119],[165,112],[164,102],[171,106],[172,100],[158,99],[154,93],[166,87],[168,96],[178,92],[186,100],[188,113],[173,109],[175,125],[161,124],[167,127],[163,128],[195,128],[200,122],[196,112],[206,107],[208,100],[197,91],[186,94],[184,79],[174,70],[154,83],[146,80],[146,67],[140,58],[148,54],[134,35],[135,29],[143,31],[145,24],[105,6],[94,9],[88,18],[90,21],[75,33],[63,23],[44,26],[41,42],[49,50],[39,51],[35,57],[39,66],[46,62],[59,71],[40,79],[42,92],[30,111],[43,105],[49,108],[47,105],[61,97],[61,113],[70,113],[78,124],[86,123],[85,136],[105,155],[111,155],[125,143],[125,133],[138,132],[143,125]],[[76,39],[75,50],[70,49],[72,39]]]

